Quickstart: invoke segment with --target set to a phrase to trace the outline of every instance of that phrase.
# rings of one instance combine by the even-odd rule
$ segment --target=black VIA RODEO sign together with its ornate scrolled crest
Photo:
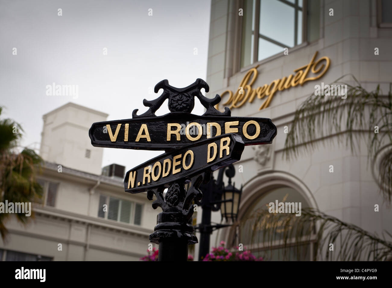
[[[201,94],[201,88],[209,90],[201,79],[180,89],[169,85],[167,80],[159,82],[154,91],[163,89],[163,93],[155,100],[143,101],[149,107],[147,112],[137,115],[135,109],[132,119],[93,123],[89,130],[91,144],[122,149],[173,150],[227,133],[240,135],[245,145],[272,143],[276,127],[270,119],[231,117],[229,108],[225,107],[224,112],[214,108],[221,99],[218,94],[213,99],[206,98]],[[206,108],[202,116],[191,114],[195,97]],[[156,110],[166,99],[170,113],[156,116]]]

